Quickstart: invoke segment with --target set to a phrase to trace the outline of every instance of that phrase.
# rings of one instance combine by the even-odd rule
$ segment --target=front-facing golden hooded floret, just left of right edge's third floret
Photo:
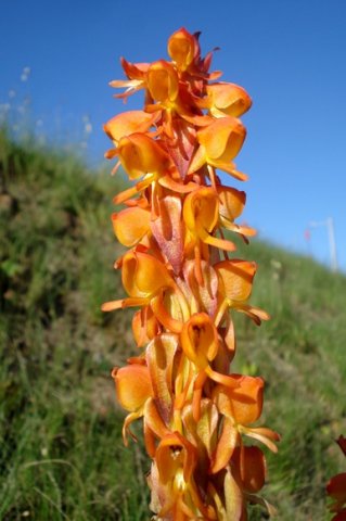
[[[191,239],[187,247],[195,245],[196,240],[232,252],[232,242],[213,236],[219,219],[219,200],[217,192],[210,187],[203,187],[189,193],[183,205],[183,220]]]

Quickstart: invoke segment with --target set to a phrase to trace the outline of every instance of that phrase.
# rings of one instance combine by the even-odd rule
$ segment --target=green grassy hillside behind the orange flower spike
[[[141,442],[123,446],[110,378],[134,353],[130,314],[100,312],[123,294],[119,181],[4,134],[0,179],[0,519],[148,520],[150,463]],[[346,279],[256,241],[242,255],[259,266],[252,303],[272,315],[261,328],[236,317],[235,370],[266,379],[264,422],[283,435],[265,495],[282,521],[322,521],[345,469]]]

